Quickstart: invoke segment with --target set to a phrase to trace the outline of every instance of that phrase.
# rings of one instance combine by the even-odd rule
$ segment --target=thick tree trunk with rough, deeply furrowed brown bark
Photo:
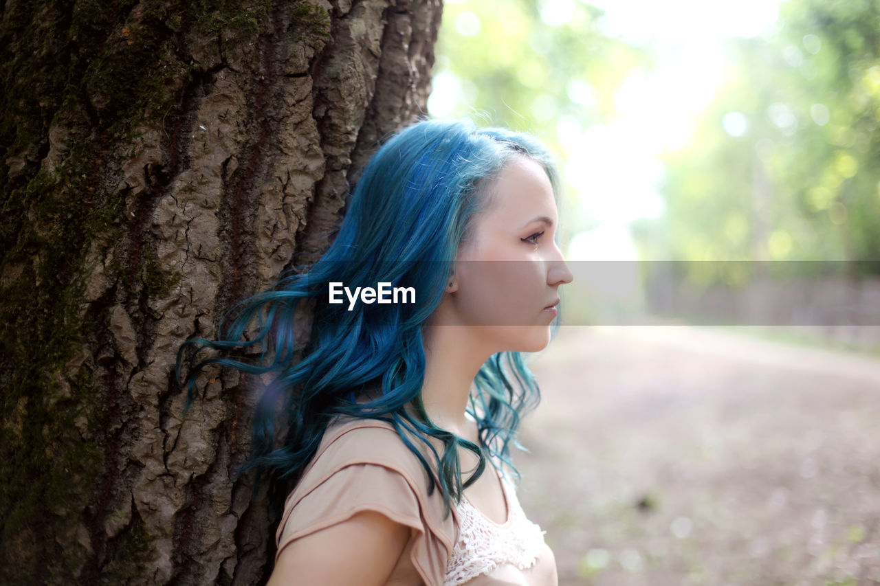
[[[0,582],[253,584],[254,385],[180,342],[326,249],[423,111],[440,0],[2,8]],[[209,378],[210,377],[210,378]]]

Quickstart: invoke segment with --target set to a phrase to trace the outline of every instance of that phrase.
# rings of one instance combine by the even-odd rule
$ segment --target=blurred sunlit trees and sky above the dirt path
[[[565,323],[880,354],[878,30],[873,0],[453,0],[429,113],[558,154]]]

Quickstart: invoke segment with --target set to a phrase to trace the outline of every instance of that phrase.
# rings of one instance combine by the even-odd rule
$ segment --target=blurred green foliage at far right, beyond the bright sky
[[[665,153],[664,225],[642,236],[682,260],[876,260],[878,32],[880,2],[789,0],[774,32],[730,40],[724,87]]]

